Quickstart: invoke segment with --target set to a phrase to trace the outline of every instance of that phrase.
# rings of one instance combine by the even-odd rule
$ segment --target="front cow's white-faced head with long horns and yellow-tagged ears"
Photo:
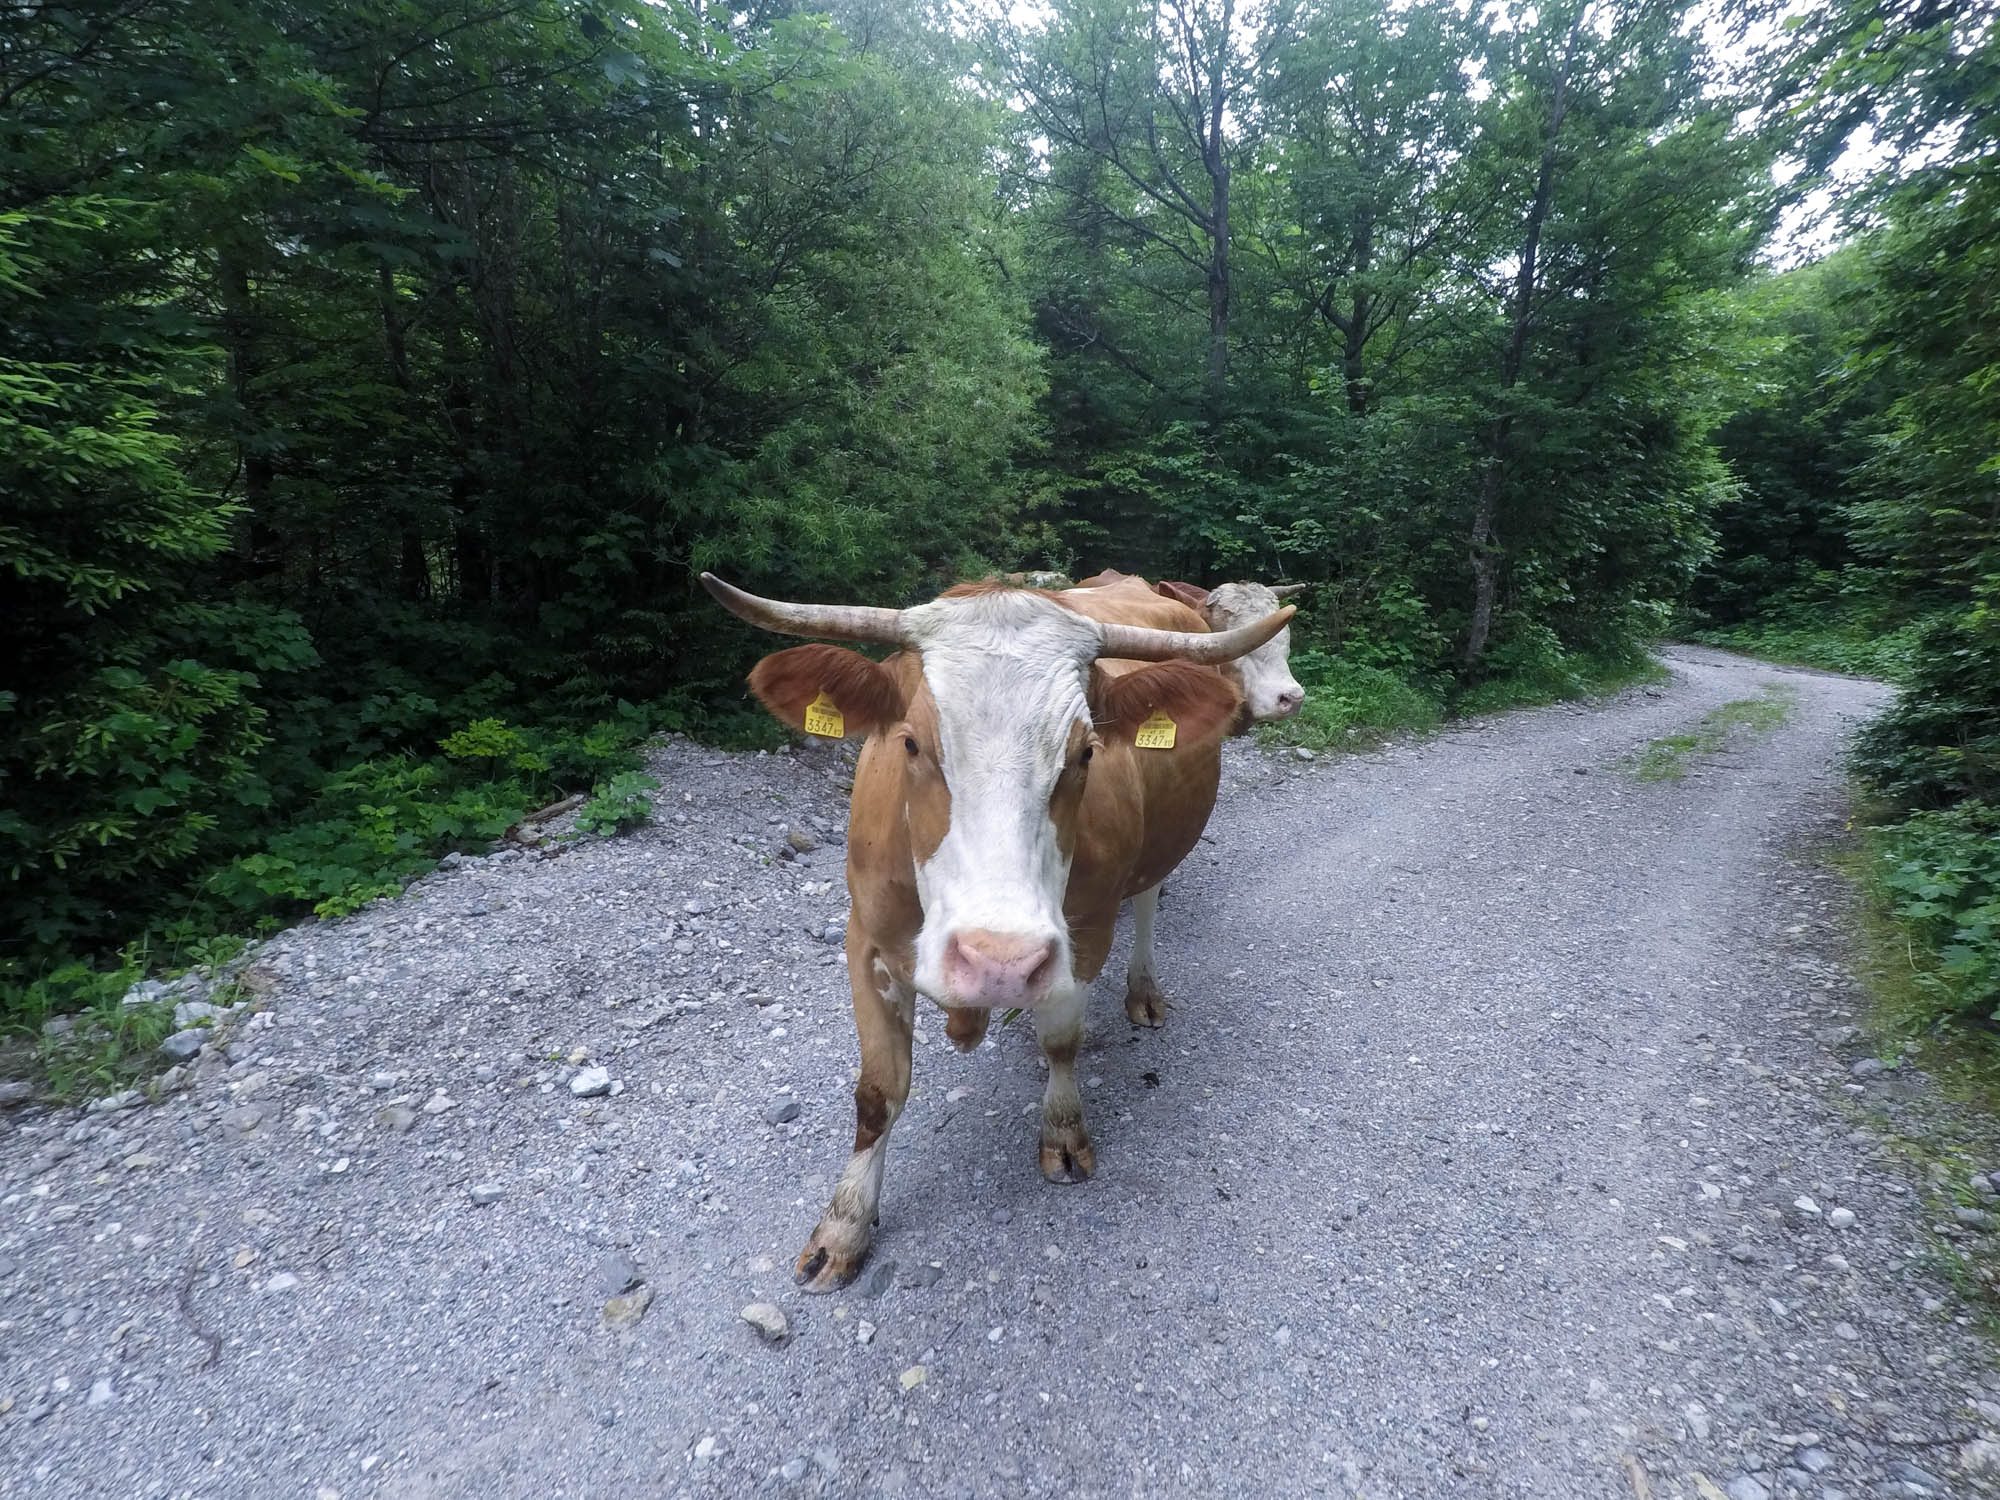
[[[902,766],[924,924],[916,988],[948,1006],[1034,1006],[1074,986],[1062,896],[1094,754],[1156,712],[1176,748],[1214,740],[1238,712],[1220,664],[1284,630],[1292,610],[1220,634],[1098,624],[1036,590],[974,586],[910,610],[780,604],[702,574],[730,612],[766,630],[894,644],[904,662],[796,646],[750,674],[792,728],[878,738]],[[908,670],[908,658],[918,670]],[[1104,658],[1150,662],[1112,676]],[[838,716],[834,726],[830,714]]]

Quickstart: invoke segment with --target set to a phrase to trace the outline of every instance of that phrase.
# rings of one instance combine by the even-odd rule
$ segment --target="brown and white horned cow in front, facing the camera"
[[[910,1096],[918,994],[946,1008],[960,1050],[978,1046],[994,1008],[1032,1012],[1048,1058],[1042,1174],[1090,1176],[1076,1092],[1086,986],[1120,902],[1158,886],[1208,822],[1216,744],[1242,702],[1212,664],[1262,646],[1292,610],[1210,634],[1100,622],[998,584],[908,610],[702,584],[766,630],[900,648],[872,662],[794,646],[750,672],[780,722],[866,736],[848,820],[854,1154],[798,1256],[798,1280],[828,1292],[868,1254],[888,1134]]]

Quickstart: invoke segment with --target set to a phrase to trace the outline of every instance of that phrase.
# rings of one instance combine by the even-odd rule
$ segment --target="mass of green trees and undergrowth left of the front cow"
[[[0,982],[774,744],[702,566],[1008,554],[1040,354],[922,28],[96,10],[0,16]]]

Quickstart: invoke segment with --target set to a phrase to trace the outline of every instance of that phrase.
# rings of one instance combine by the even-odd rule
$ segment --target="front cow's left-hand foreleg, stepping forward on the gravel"
[[[798,1252],[796,1280],[808,1292],[846,1286],[868,1258],[876,1208],[882,1204],[882,1162],[888,1132],[910,1098],[910,1030],[916,1024],[916,990],[848,932],[848,982],[854,988],[854,1030],[862,1040],[862,1076],[854,1084],[854,1154],[840,1174],[806,1248]]]

